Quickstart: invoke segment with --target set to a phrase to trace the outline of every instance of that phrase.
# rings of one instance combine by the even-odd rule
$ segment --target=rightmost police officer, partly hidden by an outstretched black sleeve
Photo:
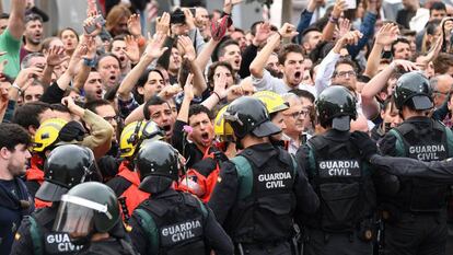
[[[403,74],[394,97],[404,121],[380,143],[383,154],[421,161],[439,161],[453,155],[452,131],[429,117],[433,107],[432,91],[423,74]],[[399,183],[396,195],[381,198],[387,222],[386,252],[445,254],[448,185],[413,177],[399,177]]]

